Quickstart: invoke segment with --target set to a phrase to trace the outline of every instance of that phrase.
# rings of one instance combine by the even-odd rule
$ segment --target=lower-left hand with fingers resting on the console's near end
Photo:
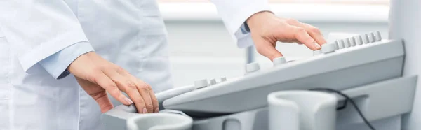
[[[86,93],[95,99],[102,113],[114,108],[107,92],[124,105],[134,102],[139,113],[159,112],[158,100],[150,85],[95,52],[81,55],[67,70]],[[130,99],[121,91],[128,94]]]

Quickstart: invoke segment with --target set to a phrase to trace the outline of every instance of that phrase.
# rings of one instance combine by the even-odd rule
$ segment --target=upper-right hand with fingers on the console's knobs
[[[251,37],[258,52],[271,59],[282,57],[276,50],[276,41],[305,44],[311,50],[320,50],[326,43],[321,32],[312,25],[297,20],[276,17],[270,12],[255,13],[247,20]]]

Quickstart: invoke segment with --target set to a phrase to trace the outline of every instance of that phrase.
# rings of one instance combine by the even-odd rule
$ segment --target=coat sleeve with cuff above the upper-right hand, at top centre
[[[253,45],[250,33],[245,31],[246,20],[251,15],[270,11],[267,0],[210,0],[239,48]]]

